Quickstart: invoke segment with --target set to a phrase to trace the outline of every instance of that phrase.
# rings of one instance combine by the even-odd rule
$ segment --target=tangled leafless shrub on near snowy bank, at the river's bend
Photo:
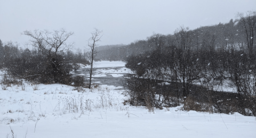
[[[129,79],[125,79],[123,86],[129,94],[130,105],[146,106],[149,111],[154,111],[154,108],[163,109],[163,107],[180,105],[182,99],[177,98],[177,95],[180,97],[181,94],[179,89],[175,90],[173,87],[169,89],[164,82],[159,80],[132,74],[128,76]]]

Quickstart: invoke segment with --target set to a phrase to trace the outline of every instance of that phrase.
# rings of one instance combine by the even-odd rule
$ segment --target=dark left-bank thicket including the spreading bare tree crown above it
[[[19,48],[18,44],[0,44],[0,67],[12,76],[41,83],[71,84],[74,78],[69,74],[77,68],[77,63],[88,64],[84,53],[69,50],[73,44],[66,40],[72,32],[25,31],[31,39],[32,49]],[[77,78],[76,78],[77,79]]]

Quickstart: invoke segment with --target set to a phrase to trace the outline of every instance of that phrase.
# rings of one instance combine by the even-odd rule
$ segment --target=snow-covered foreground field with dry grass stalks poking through
[[[17,137],[27,132],[27,138],[256,136],[255,117],[183,111],[181,107],[149,112],[145,107],[124,105],[127,96],[119,87],[100,85],[78,92],[61,84],[24,82],[24,86],[25,90],[17,85],[0,88],[0,137],[12,137],[10,127]]]

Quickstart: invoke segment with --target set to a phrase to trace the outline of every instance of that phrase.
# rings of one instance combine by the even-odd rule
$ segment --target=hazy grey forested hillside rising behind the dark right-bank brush
[[[181,26],[172,35],[154,33],[152,36],[147,37],[146,40],[136,40],[129,45],[100,46],[98,47],[97,59],[126,61],[130,55],[145,54],[147,51],[155,50],[158,47],[166,49],[180,46],[181,33],[186,35],[183,37],[186,37],[186,45],[189,46],[190,50],[230,51],[234,49],[248,51],[247,44],[250,41],[255,44],[254,38],[251,39],[250,36],[248,36],[249,38],[246,36],[243,19],[236,19],[235,21],[231,19],[228,23],[199,27],[194,30]],[[253,37],[253,32],[251,35]]]

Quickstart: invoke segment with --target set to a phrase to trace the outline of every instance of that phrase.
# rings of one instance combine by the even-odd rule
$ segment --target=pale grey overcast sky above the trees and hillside
[[[25,30],[58,30],[75,33],[69,41],[84,49],[93,28],[103,31],[99,45],[130,44],[153,32],[173,33],[180,25],[200,26],[227,23],[237,12],[256,11],[256,0],[0,0],[0,39],[28,41]]]

